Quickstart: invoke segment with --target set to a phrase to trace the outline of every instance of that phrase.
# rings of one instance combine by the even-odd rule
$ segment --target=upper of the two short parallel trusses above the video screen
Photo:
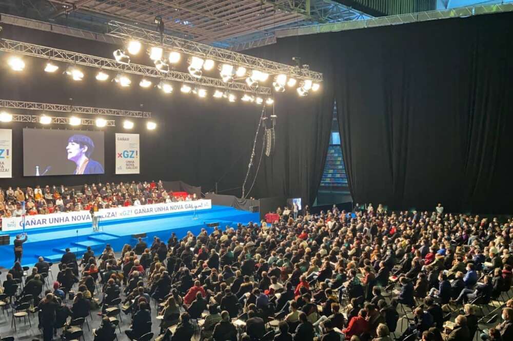
[[[146,112],[146,111],[131,111],[131,110],[119,110],[119,109],[70,106],[70,105],[65,105],[65,104],[11,101],[10,99],[0,99],[0,107],[11,108],[11,109],[24,109],[24,110],[74,112],[74,113],[78,113],[78,114],[151,118],[151,112]]]

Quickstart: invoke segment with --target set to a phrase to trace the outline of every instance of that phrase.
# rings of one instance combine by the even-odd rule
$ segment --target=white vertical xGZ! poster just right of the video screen
[[[116,133],[116,174],[141,172],[139,134]]]

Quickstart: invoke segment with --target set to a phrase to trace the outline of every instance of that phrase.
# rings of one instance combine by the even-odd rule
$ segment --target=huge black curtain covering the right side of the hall
[[[503,13],[289,37],[251,53],[310,56],[331,83],[323,98],[334,91],[354,202],[506,213],[511,36]]]

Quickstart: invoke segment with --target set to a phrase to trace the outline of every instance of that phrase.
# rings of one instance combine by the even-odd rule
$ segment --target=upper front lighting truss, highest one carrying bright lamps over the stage
[[[173,51],[212,58],[221,63],[244,66],[249,69],[258,69],[269,74],[284,73],[298,79],[312,79],[315,82],[322,82],[323,79],[323,75],[320,72],[304,70],[295,66],[268,61],[267,59],[215,48],[209,45],[192,42],[187,39],[177,38],[168,34],[163,34],[161,36],[159,32],[147,30],[142,27],[111,21],[109,22],[109,28],[110,31],[107,34],[115,37],[125,39],[134,38],[141,42],[155,46],[163,46]]]

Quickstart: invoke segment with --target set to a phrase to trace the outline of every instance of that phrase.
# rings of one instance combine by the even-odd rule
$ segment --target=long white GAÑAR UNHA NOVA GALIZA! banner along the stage
[[[100,225],[108,220],[121,220],[150,215],[188,212],[194,210],[208,210],[212,208],[211,200],[201,199],[190,202],[162,203],[143,206],[114,207],[101,209],[98,215]],[[88,211],[61,212],[52,214],[27,215],[25,217],[25,229],[42,227],[56,227],[63,225],[90,224],[91,214]],[[10,217],[2,219],[3,231],[23,229],[22,217]]]

